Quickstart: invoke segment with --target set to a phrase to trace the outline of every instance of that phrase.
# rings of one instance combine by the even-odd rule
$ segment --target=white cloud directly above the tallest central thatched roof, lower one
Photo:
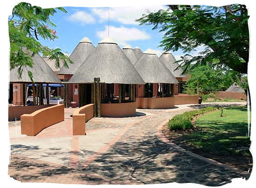
[[[108,37],[108,26],[105,26],[104,31],[97,31],[96,34],[100,39]],[[145,31],[141,31],[135,27],[128,28],[123,26],[109,26],[109,36],[121,46],[127,45],[127,41],[131,40],[150,39],[150,35],[148,35]]]

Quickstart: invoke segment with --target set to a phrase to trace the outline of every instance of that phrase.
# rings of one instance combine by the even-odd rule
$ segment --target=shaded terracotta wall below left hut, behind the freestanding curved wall
[[[15,118],[16,120],[20,120],[20,115],[22,114],[31,114],[36,110],[51,106],[54,106],[54,104],[8,107],[8,121],[15,121]]]

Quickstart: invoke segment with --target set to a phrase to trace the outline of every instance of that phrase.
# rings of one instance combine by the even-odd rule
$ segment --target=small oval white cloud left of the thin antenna
[[[90,23],[95,23],[94,17],[84,11],[77,11],[74,14],[72,14],[69,17],[69,20],[75,21],[75,22],[80,22],[82,25],[84,24],[90,24]]]

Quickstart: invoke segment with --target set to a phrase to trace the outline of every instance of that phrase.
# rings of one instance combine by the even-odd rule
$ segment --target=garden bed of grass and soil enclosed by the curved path
[[[170,130],[167,123],[162,133],[169,141],[193,153],[245,171],[251,170],[250,141],[246,138],[247,108],[227,107],[223,117],[220,113],[217,110],[197,116],[196,127],[186,129]]]

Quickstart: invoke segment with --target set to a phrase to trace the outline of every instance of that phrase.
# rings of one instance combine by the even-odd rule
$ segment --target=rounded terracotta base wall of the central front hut
[[[135,112],[136,102],[101,104],[101,116],[103,117],[129,117]]]

